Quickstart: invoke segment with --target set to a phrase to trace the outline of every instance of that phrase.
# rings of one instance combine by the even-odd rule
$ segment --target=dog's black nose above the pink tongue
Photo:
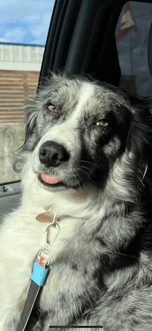
[[[39,149],[39,160],[47,167],[58,167],[61,163],[68,161],[69,154],[64,146],[57,142],[44,142]]]

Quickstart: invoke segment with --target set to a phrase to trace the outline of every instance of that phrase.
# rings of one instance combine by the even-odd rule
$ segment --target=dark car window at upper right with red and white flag
[[[152,78],[147,49],[152,22],[152,3],[131,1],[124,5],[115,39],[121,68],[120,87],[142,99],[152,98]]]

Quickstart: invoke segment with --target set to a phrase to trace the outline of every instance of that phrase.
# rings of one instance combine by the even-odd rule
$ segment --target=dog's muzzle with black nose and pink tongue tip
[[[41,144],[39,161],[41,168],[37,179],[51,191],[82,189],[82,185],[88,180],[87,168],[84,167],[85,171],[81,169],[79,159],[57,142],[49,140]]]

